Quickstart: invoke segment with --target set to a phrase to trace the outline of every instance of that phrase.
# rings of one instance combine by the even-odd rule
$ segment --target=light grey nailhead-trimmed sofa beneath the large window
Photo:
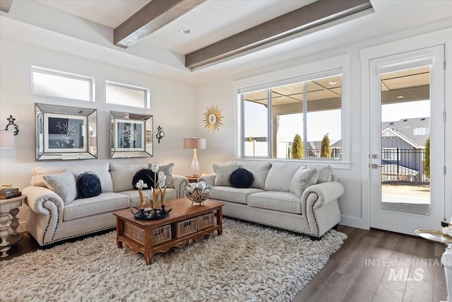
[[[251,187],[237,188],[224,183],[237,168],[252,173]],[[213,185],[211,199],[225,204],[224,216],[307,234],[312,239],[321,238],[340,222],[338,197],[344,194],[344,187],[337,182],[330,165],[239,161],[214,165],[214,170],[216,174],[203,175],[199,181]],[[306,173],[312,175],[309,180],[315,180],[314,184],[302,180]]]

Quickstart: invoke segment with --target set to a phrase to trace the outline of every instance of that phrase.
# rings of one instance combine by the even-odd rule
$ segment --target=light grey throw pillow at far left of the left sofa
[[[58,174],[44,175],[45,185],[63,199],[64,204],[70,204],[77,197],[76,177],[69,171],[63,170]]]

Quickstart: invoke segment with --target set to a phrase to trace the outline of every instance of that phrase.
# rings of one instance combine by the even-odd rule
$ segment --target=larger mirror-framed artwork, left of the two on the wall
[[[97,110],[35,103],[36,161],[97,158]]]

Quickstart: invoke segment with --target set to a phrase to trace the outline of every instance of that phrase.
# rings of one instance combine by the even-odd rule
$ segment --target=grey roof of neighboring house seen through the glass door
[[[430,117],[417,117],[402,119],[395,122],[382,122],[381,133],[391,132],[393,136],[400,137],[415,148],[425,146],[425,141],[430,135]],[[392,135],[390,135],[392,136]]]

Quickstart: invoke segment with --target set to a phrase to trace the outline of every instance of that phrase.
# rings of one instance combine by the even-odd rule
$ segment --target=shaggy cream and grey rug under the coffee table
[[[292,301],[345,238],[223,219],[222,236],[145,265],[112,231],[1,261],[0,301]]]

